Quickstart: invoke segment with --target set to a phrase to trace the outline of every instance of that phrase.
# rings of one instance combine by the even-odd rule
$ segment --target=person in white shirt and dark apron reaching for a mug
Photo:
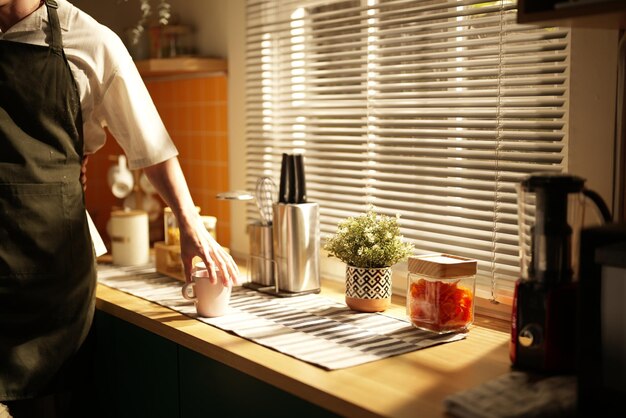
[[[105,127],[177,217],[186,280],[198,256],[237,283],[119,37],[67,0],[0,0],[0,403],[14,418],[67,416],[95,306],[86,156]]]

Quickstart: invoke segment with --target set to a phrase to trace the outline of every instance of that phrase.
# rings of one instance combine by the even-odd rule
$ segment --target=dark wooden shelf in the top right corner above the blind
[[[519,0],[518,23],[602,29],[626,28],[626,2],[604,0],[558,7],[564,0]]]

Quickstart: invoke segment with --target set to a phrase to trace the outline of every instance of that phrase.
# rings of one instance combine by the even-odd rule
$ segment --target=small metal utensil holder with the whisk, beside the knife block
[[[250,255],[247,263],[248,281],[243,284],[249,289],[274,288],[276,262],[273,259],[272,225],[262,222],[248,224]]]

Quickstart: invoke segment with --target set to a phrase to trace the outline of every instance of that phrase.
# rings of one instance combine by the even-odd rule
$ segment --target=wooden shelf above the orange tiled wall
[[[156,58],[135,61],[143,77],[161,77],[177,74],[226,72],[227,61],[217,58]]]

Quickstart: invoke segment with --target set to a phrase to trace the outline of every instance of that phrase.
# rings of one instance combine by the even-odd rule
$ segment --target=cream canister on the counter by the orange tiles
[[[113,264],[139,266],[150,261],[148,213],[143,210],[115,210],[107,225]]]

